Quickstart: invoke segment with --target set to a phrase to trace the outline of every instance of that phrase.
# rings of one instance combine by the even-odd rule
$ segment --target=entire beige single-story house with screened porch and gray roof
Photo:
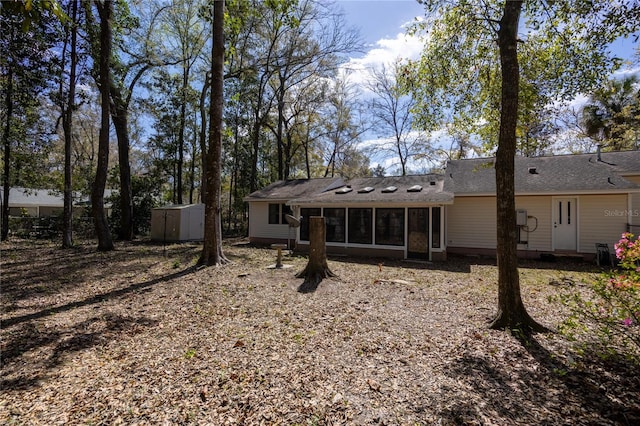
[[[327,252],[444,260],[494,255],[494,158],[449,161],[443,174],[279,181],[246,197],[253,243],[295,240],[324,216]],[[597,244],[640,233],[640,151],[517,157],[518,253],[592,258]],[[287,225],[285,214],[300,219]]]

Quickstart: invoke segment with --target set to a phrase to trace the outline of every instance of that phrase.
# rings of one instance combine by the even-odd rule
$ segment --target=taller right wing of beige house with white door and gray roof
[[[446,187],[450,253],[495,254],[493,158],[452,161]],[[640,152],[608,152],[515,159],[518,250],[592,258],[640,225]]]

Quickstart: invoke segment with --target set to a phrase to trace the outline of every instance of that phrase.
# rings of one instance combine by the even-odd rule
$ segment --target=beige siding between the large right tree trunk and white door
[[[519,248],[534,251],[550,251],[551,248],[551,197],[527,196],[516,197],[516,209],[526,210],[528,244]]]

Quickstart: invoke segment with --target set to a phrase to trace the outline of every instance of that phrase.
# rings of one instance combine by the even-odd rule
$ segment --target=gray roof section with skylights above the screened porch
[[[453,194],[444,192],[443,184],[443,176],[436,174],[355,178],[340,188],[292,199],[290,204],[451,203]]]

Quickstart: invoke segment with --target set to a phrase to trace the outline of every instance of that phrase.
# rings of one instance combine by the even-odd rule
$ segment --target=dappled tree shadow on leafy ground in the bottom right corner
[[[534,336],[518,340],[524,350],[509,357],[467,351],[451,361],[447,374],[468,393],[454,395],[439,415],[454,424],[565,424],[566,417],[584,424],[640,424],[637,378],[615,368],[578,370]],[[629,387],[629,398],[620,398],[618,391]]]

